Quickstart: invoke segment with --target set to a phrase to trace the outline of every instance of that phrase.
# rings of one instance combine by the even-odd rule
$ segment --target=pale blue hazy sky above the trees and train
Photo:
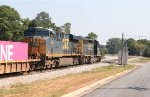
[[[98,35],[100,44],[110,38],[149,39],[150,0],[0,0],[15,8],[21,18],[34,19],[45,11],[57,26],[71,23],[71,33]]]

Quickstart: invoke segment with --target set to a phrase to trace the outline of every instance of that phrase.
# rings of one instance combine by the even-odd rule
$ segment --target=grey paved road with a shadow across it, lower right
[[[83,97],[150,97],[150,63]]]

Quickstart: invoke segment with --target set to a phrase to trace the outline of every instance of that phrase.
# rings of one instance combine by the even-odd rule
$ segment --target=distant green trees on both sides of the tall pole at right
[[[129,38],[124,41],[127,43],[129,49],[129,55],[138,55],[150,57],[150,41],[147,39],[142,40],[134,40],[133,38]],[[121,49],[121,39],[119,38],[111,38],[107,42],[107,49],[109,54],[117,54],[117,52]]]

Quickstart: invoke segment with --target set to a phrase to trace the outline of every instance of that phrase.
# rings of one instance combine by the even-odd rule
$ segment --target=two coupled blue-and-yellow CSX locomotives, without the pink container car
[[[41,60],[30,64],[32,70],[57,67],[68,61],[72,65],[101,61],[99,42],[81,36],[34,27],[24,32],[22,42],[28,43],[29,59]]]

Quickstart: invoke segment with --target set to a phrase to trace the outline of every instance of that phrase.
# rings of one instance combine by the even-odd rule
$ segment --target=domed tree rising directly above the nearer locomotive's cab
[[[36,18],[31,21],[30,27],[51,28],[51,17],[45,11],[37,14]]]

